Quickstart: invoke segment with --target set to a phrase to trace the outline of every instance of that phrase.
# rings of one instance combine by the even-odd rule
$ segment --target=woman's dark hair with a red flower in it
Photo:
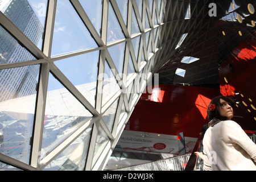
[[[225,97],[225,96],[214,97],[212,99],[212,101],[210,101],[210,104],[209,104],[208,109],[207,109],[207,118],[209,119],[209,121],[211,121],[213,118],[221,119],[222,121],[227,119],[226,117],[222,117],[220,115],[220,112],[218,111],[218,108],[221,106],[221,103],[220,103],[221,98],[224,101],[228,102],[228,104],[234,108],[234,101],[231,98]],[[210,109],[210,106],[212,104],[215,105],[215,107],[214,107],[215,109]]]

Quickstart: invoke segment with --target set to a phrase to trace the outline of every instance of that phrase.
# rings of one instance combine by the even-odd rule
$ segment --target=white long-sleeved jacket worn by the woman
[[[256,170],[256,144],[234,121],[209,127],[203,147],[205,171]]]

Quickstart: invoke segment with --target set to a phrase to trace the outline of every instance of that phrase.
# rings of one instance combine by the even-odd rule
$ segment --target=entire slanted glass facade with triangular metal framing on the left
[[[104,168],[154,75],[166,3],[0,1],[2,170]]]

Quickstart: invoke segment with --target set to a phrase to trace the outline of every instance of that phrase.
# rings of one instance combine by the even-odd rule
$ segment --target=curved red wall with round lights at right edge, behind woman
[[[256,130],[255,48],[256,34],[254,33],[233,49],[220,68],[221,93],[240,102],[237,112],[243,118],[238,119],[238,123],[245,130]],[[236,113],[234,114],[236,115]]]

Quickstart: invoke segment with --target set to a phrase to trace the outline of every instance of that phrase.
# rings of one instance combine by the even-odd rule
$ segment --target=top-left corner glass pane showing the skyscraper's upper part
[[[42,49],[47,1],[1,1],[0,11],[15,24],[36,46]]]

